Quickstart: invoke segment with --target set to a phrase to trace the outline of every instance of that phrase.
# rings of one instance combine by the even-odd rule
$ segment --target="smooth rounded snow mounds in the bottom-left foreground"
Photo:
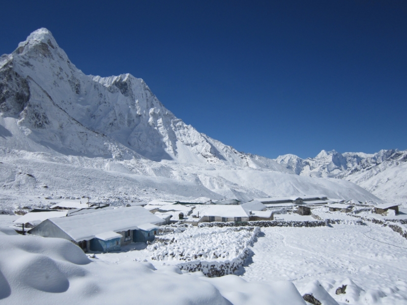
[[[109,264],[89,259],[70,241],[13,232],[0,229],[1,304],[304,304],[287,281],[248,283],[183,274],[175,266]]]

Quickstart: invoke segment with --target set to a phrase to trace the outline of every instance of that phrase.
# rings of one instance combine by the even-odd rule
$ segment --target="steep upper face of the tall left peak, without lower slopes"
[[[286,171],[271,159],[240,153],[186,125],[161,104],[140,78],[130,74],[83,74],[46,28],[33,32],[12,54],[0,58],[0,76],[7,80],[0,88],[0,111],[4,116],[18,117],[19,126],[35,130],[41,134],[37,138],[46,138],[47,144],[57,151],[69,148],[88,156],[143,156],[153,161]],[[55,116],[59,117],[59,124],[53,121]],[[58,131],[67,129],[65,121],[70,125],[79,123],[77,128],[86,129],[78,130],[86,134],[86,141],[96,132],[99,137],[107,136],[109,139],[103,141],[118,149],[98,151],[96,147],[86,147],[80,135],[64,141]],[[46,135],[47,130],[58,138]]]

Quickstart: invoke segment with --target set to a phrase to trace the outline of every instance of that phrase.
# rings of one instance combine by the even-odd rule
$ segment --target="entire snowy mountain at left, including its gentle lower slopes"
[[[45,28],[0,57],[0,158],[0,199],[14,206],[46,204],[48,196],[119,204],[322,193],[380,201],[350,182],[299,177],[199,133],[142,79],[83,74]]]

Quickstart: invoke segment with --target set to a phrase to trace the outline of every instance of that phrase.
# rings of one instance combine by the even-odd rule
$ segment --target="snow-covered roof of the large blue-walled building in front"
[[[107,231],[135,230],[142,224],[158,224],[163,222],[161,218],[141,206],[122,207],[83,215],[53,218],[48,221],[59,227],[75,241],[89,240],[97,234]]]

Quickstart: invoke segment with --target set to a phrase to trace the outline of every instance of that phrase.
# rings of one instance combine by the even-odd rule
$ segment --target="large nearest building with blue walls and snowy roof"
[[[154,240],[164,220],[141,206],[122,207],[70,217],[50,218],[28,231],[71,240],[84,252],[118,251],[131,242]]]

